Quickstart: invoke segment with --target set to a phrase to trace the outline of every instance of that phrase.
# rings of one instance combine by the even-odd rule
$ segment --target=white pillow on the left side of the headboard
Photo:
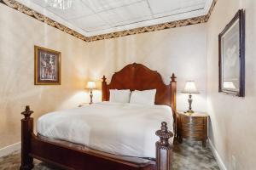
[[[131,91],[129,89],[127,90],[109,90],[110,96],[109,101],[110,102],[116,102],[116,103],[129,103],[130,97],[131,97]]]

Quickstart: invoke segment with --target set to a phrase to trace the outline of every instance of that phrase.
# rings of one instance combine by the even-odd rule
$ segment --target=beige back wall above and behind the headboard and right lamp
[[[177,76],[177,109],[188,109],[188,95],[181,94],[187,80],[195,80],[201,94],[193,96],[195,111],[206,111],[207,25],[184,26],[154,31],[86,45],[91,72],[111,77],[125,65],[137,62],[159,71],[166,83]],[[109,81],[109,80],[108,80]]]

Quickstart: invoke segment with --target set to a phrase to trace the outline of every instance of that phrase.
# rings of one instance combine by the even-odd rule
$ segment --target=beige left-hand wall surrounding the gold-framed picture
[[[84,42],[0,3],[0,148],[20,141],[20,111],[38,117],[83,102]],[[34,86],[34,45],[62,53],[61,86]]]

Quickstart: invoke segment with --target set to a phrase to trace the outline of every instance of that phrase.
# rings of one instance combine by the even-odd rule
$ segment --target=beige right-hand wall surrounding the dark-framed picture
[[[218,93],[218,33],[246,9],[246,97]],[[207,31],[207,107],[211,115],[210,139],[230,170],[256,167],[256,1],[218,0]]]

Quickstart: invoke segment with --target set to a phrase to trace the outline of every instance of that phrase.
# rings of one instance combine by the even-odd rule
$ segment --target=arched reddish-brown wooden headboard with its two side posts
[[[109,89],[156,89],[155,105],[169,105],[175,114],[177,82],[174,74],[171,78],[170,84],[166,85],[157,71],[137,63],[126,65],[121,71],[113,74],[109,84],[105,76],[102,78],[102,101],[109,100]]]

